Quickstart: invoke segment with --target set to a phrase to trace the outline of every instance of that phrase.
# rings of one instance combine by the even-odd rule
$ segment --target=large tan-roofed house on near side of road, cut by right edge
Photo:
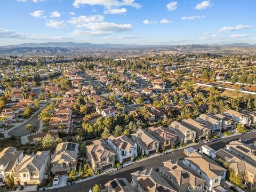
[[[216,151],[217,158],[225,161],[230,169],[242,175],[243,180],[256,185],[256,166],[247,162],[241,156],[231,153],[228,149],[219,149]]]

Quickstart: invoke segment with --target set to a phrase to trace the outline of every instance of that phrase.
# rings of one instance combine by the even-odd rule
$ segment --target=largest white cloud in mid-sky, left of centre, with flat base
[[[89,36],[110,35],[113,33],[118,33],[118,32],[132,29],[131,24],[116,24],[112,22],[85,23],[81,25],[81,27],[89,28],[91,29],[91,31],[74,30],[72,35],[89,35]]]

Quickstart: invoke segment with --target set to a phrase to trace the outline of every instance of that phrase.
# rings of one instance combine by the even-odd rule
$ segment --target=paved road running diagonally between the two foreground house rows
[[[206,145],[209,145],[211,148],[218,150],[220,148],[224,148],[226,146],[226,144],[231,141],[231,140],[235,140],[238,138],[241,138],[242,140],[245,139],[252,139],[256,137],[256,132],[252,132],[252,133],[246,133],[244,135],[235,135],[233,137],[228,137],[228,138],[224,138],[224,139],[220,139],[218,141],[212,142],[212,143],[207,143]],[[201,145],[196,145],[194,146],[194,148],[199,149],[202,145],[205,145],[205,143],[201,144]],[[183,149],[177,149],[174,151],[174,155],[172,153],[166,154],[165,156],[157,156],[154,158],[150,158],[150,159],[146,159],[145,161],[141,161],[141,162],[137,162],[131,165],[128,165],[126,167],[124,167],[122,170],[118,170],[118,171],[111,171],[109,173],[100,175],[97,178],[93,178],[91,180],[88,181],[84,181],[81,183],[76,183],[73,186],[66,186],[66,187],[61,187],[61,188],[57,188],[57,189],[50,189],[47,191],[51,191],[51,192],[57,192],[57,191],[61,191],[61,192],[70,192],[70,191],[77,191],[77,192],[88,192],[90,189],[93,188],[93,186],[97,183],[97,184],[101,184],[102,186],[105,185],[105,183],[107,183],[109,180],[113,180],[114,178],[126,178],[129,182],[131,181],[131,173],[138,171],[138,170],[143,170],[143,169],[148,169],[153,167],[153,169],[157,169],[159,166],[163,166],[163,162],[164,161],[168,161],[170,159],[172,159],[172,156],[174,157],[174,162],[177,159],[183,158],[185,157],[183,155]]]

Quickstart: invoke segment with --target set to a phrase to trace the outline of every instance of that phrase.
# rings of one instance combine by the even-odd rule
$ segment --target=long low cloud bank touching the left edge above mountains
[[[66,38],[61,36],[47,36],[35,34],[21,34],[7,29],[0,28],[1,38],[16,38],[16,39],[29,39],[37,41],[58,41],[58,40],[71,40],[73,38]]]

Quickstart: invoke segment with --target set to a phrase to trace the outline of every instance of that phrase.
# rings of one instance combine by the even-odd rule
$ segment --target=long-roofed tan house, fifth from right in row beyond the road
[[[196,131],[196,138],[198,139],[207,138],[211,135],[211,128],[196,121],[195,119],[183,119],[181,123],[188,126],[191,130]]]

